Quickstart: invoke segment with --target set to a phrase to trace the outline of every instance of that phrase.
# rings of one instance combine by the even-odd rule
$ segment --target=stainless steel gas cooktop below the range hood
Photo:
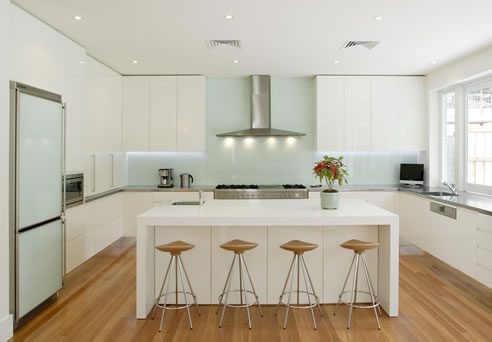
[[[305,199],[308,190],[302,184],[257,185],[219,184],[214,191],[215,199]]]

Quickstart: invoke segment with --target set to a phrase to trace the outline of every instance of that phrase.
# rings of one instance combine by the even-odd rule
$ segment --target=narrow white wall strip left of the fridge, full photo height
[[[9,0],[0,0],[0,341],[12,336],[9,314]]]

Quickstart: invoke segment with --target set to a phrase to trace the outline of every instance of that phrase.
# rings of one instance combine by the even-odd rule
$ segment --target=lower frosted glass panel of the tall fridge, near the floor
[[[61,289],[62,245],[61,220],[19,233],[18,318]]]

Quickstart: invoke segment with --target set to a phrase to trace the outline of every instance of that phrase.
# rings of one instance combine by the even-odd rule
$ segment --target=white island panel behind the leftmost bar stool
[[[195,245],[195,248],[183,252],[181,259],[185,267],[186,273],[191,282],[193,290],[196,291],[198,303],[210,303],[210,244],[203,243],[204,241],[210,241],[210,228],[207,227],[156,227],[155,229],[155,245],[162,245],[170,243],[176,240],[185,241]],[[169,260],[171,258],[170,253],[159,252],[155,250],[155,297],[159,295],[161,290],[162,281],[166,274]],[[183,275],[184,278],[184,275]],[[170,284],[169,291],[176,291],[176,268],[170,270]],[[185,286],[188,291],[188,285],[184,278]],[[178,288],[182,291],[181,279],[178,275]],[[187,300],[191,300],[191,297],[187,297]],[[178,302],[184,304],[183,295],[178,296]],[[168,297],[168,303],[176,303],[176,295]],[[195,308],[190,308],[195,310]]]

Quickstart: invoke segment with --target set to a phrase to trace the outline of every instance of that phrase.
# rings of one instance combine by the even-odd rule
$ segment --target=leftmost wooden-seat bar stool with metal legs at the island
[[[190,321],[190,329],[193,329],[193,323],[191,322],[190,306],[192,306],[194,304],[196,306],[197,311],[198,311],[198,315],[200,315],[200,308],[198,307],[195,293],[193,292],[193,288],[191,287],[190,279],[188,278],[188,274],[186,273],[186,269],[183,265],[183,261],[181,260],[181,253],[184,251],[188,251],[192,248],[195,248],[195,246],[190,244],[190,243],[183,242],[183,241],[174,241],[174,242],[171,242],[171,243],[168,243],[165,245],[160,245],[160,246],[156,247],[156,249],[160,252],[171,253],[171,260],[169,260],[169,265],[167,266],[166,275],[164,276],[164,280],[162,281],[161,291],[159,292],[159,297],[157,297],[155,300],[154,311],[152,312],[152,319],[154,319],[156,309],[158,307],[162,309],[161,324],[159,326],[159,332],[162,331],[162,322],[164,321],[164,314],[166,313],[167,309],[171,309],[171,310],[186,309],[188,311],[188,319]],[[171,283],[170,270],[171,270],[173,265],[176,268],[176,291],[169,292],[169,284]],[[184,273],[184,276],[185,276],[186,281],[188,283],[189,291],[187,291],[185,289],[183,273]],[[169,276],[169,279],[168,279],[168,276]],[[179,279],[181,279],[182,291],[179,291],[179,289],[178,289],[178,276],[179,276]],[[164,294],[162,294],[162,291],[164,290],[164,285],[166,284],[166,280],[168,280],[167,286],[166,286],[166,292]],[[178,294],[180,294],[180,293],[183,294],[183,298],[185,301],[185,305],[181,305],[181,306],[179,306],[179,304],[178,304]],[[171,295],[171,294],[176,295],[176,307],[174,307],[174,308],[167,306],[167,297],[168,297],[168,295]],[[188,298],[186,297],[187,295],[192,296],[193,302],[188,303]],[[160,300],[162,297],[164,297],[164,303],[160,304]]]

